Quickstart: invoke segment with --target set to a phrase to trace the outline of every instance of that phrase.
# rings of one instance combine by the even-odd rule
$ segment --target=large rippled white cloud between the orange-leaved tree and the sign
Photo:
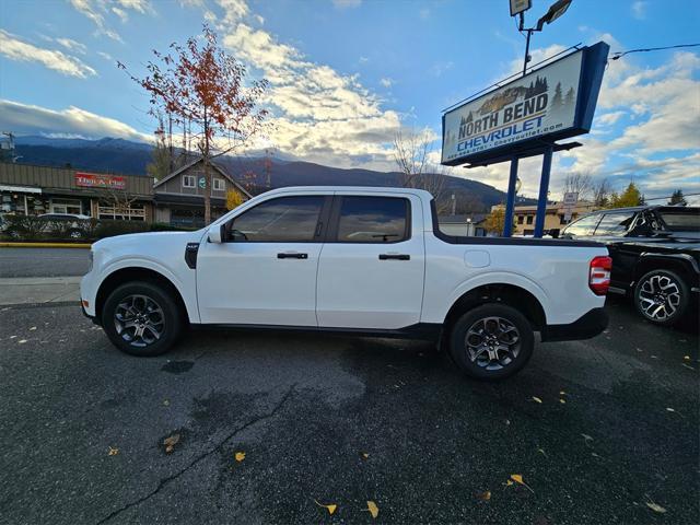
[[[394,168],[389,144],[400,127],[398,113],[384,109],[357,75],[315,63],[293,45],[253,27],[255,14],[238,2],[234,10],[231,0],[220,3],[228,14],[217,25],[224,46],[271,84],[265,102],[272,108],[273,131],[252,148],[271,142],[308,161]]]

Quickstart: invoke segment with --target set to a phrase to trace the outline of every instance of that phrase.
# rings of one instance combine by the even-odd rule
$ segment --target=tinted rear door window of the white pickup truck
[[[343,197],[338,222],[342,243],[398,243],[409,237],[408,199]]]

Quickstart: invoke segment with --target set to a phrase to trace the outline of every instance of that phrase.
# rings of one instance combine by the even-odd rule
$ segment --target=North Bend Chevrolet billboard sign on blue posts
[[[588,132],[608,49],[580,49],[445,113],[442,164],[487,162]]]

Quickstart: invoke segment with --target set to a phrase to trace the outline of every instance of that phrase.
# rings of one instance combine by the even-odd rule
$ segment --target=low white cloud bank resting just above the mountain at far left
[[[90,139],[120,137],[140,142],[151,140],[150,136],[119,120],[75,106],[57,112],[7,100],[0,100],[0,128],[12,129],[18,135],[46,135],[60,130],[61,133]]]

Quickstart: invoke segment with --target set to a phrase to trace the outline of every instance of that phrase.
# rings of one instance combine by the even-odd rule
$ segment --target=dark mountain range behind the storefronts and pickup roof
[[[103,138],[89,140],[80,138],[18,137],[15,155],[23,164],[46,166],[70,166],[78,170],[145,175],[145,166],[151,162],[152,147],[125,139]],[[254,175],[259,190],[266,188],[265,159],[223,156],[218,160],[234,177],[244,173]],[[282,186],[380,186],[399,185],[397,172],[375,172],[362,168],[337,168],[302,161],[272,159],[269,164],[272,187]],[[468,178],[444,177],[444,199],[455,195],[458,212],[482,212],[491,206],[504,202],[505,192],[487,184]],[[520,201],[521,199],[518,199]],[[523,199],[529,202],[530,199]],[[445,205],[450,205],[445,202]],[[446,206],[448,208],[448,206]]]

